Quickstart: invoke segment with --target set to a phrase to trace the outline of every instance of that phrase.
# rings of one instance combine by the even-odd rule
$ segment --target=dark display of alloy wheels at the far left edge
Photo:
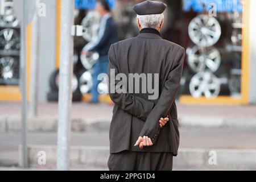
[[[19,84],[20,28],[14,2],[2,3],[0,15],[0,85]]]

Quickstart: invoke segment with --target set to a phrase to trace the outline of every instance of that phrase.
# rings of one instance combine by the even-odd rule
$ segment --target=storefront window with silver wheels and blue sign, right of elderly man
[[[181,98],[241,98],[243,1],[180,3],[164,36],[186,48]]]

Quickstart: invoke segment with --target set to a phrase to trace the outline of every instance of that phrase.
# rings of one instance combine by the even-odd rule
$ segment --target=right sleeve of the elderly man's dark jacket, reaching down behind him
[[[183,63],[185,57],[185,49],[181,48],[174,59],[167,80],[164,82],[162,93],[160,94],[157,104],[148,115],[146,122],[141,130],[140,136],[147,136],[156,142],[160,132],[159,118],[164,118],[170,113],[171,107],[174,104],[177,91],[179,89],[180,79],[183,71]]]

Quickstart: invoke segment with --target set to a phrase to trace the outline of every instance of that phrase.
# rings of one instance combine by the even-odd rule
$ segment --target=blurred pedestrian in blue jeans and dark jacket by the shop
[[[110,7],[107,1],[97,0],[96,1],[96,11],[101,16],[100,30],[98,32],[98,38],[96,41],[90,42],[82,50],[82,54],[88,55],[89,52],[98,52],[100,57],[96,64],[93,66],[93,86],[92,86],[92,98],[91,103],[96,104],[98,100],[98,84],[97,79],[100,73],[108,72],[108,52],[110,45],[118,41],[116,24],[110,14]]]

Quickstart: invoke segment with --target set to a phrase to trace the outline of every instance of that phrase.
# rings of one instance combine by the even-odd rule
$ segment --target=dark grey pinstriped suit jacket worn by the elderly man
[[[110,125],[110,153],[124,150],[141,152],[172,152],[179,147],[179,122],[175,97],[183,70],[185,50],[179,45],[152,33],[115,43],[109,50],[109,70],[123,73],[158,73],[159,97],[148,100],[149,93],[110,93],[114,102]],[[122,81],[122,80],[121,80]],[[118,85],[120,81],[115,81]],[[109,84],[110,79],[109,79]],[[113,85],[113,82],[112,82]],[[153,84],[154,85],[154,84]],[[127,90],[129,90],[127,84]],[[111,90],[109,90],[110,92]],[[169,115],[170,122],[162,129],[159,119]],[[134,147],[138,137],[148,136],[153,146]]]

